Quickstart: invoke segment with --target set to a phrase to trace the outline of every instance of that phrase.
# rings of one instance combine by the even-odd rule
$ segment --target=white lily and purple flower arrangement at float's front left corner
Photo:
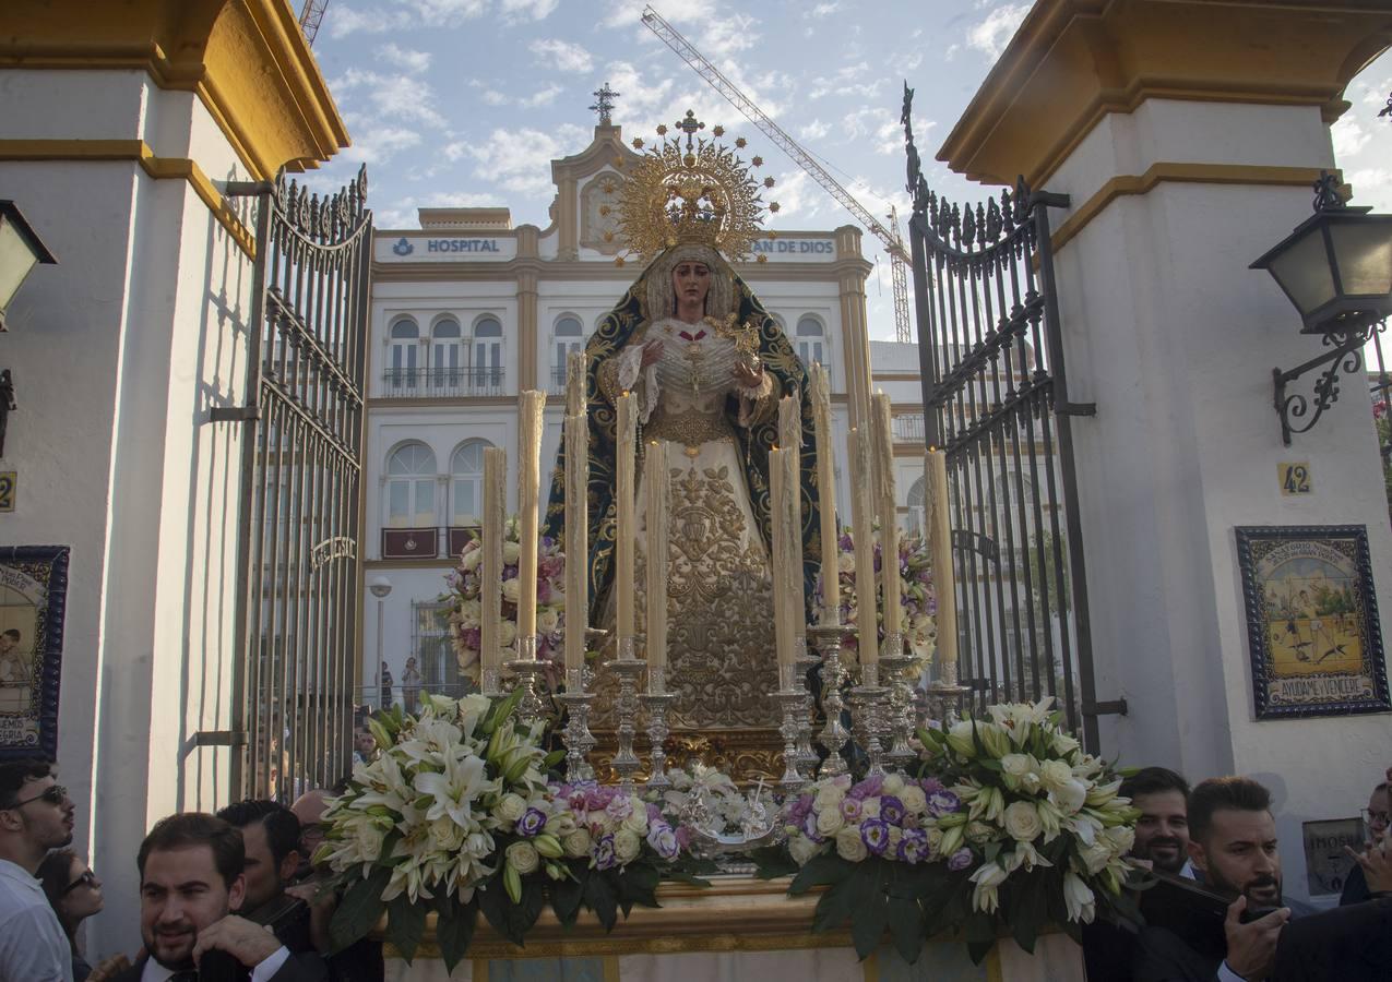
[[[315,853],[345,890],[335,944],[386,914],[386,939],[409,961],[434,910],[452,971],[480,912],[521,944],[547,903],[565,924],[585,907],[611,929],[618,910],[656,907],[663,879],[702,882],[690,832],[660,805],[617,786],[548,783],[564,751],[546,752],[544,723],[516,719],[519,698],[425,694],[418,716],[393,707],[369,719],[380,752],[330,803]]]

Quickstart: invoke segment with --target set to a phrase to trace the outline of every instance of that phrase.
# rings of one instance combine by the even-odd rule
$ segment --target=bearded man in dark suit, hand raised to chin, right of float
[[[1210,943],[1147,926],[1137,942],[1136,982],[1267,979],[1286,922],[1293,912],[1308,911],[1282,899],[1276,822],[1267,789],[1247,778],[1212,778],[1199,784],[1189,796],[1189,858],[1210,887],[1237,897],[1226,910],[1222,936]]]

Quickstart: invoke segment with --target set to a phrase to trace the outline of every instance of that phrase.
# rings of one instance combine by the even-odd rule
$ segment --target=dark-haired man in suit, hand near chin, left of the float
[[[242,833],[213,815],[159,821],[141,843],[145,954],[116,982],[319,982],[323,963],[292,954],[266,928],[230,911],[246,892]]]

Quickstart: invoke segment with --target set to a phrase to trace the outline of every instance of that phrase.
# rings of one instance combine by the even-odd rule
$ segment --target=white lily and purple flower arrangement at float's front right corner
[[[785,803],[786,844],[754,857],[760,876],[795,874],[792,894],[828,887],[813,929],[849,922],[862,958],[887,931],[910,963],[926,937],[962,931],[980,963],[1001,928],[1033,951],[1048,924],[1077,936],[1098,908],[1136,919],[1137,812],[1051,702],[920,730],[916,776],[817,782]]]

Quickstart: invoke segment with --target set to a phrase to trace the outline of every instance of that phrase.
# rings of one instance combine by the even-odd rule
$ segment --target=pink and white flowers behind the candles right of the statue
[[[855,626],[859,618],[856,606],[856,554],[851,530],[841,533],[837,542],[837,574],[839,580],[838,599],[841,602],[841,623]],[[874,530],[876,611],[880,640],[884,640],[884,586],[880,579],[880,563],[884,562],[880,547],[880,527]],[[920,665],[912,673],[917,677],[923,665],[933,657],[937,644],[937,594],[933,590],[933,558],[928,544],[919,531],[899,534],[899,631],[903,634],[905,654],[915,654]],[[825,609],[825,584],[818,580],[813,593],[813,611],[820,618]],[[856,650],[856,637],[846,638],[849,651]]]

